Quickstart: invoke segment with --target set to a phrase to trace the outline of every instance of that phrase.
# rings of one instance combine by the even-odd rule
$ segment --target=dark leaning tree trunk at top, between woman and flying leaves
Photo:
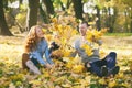
[[[47,10],[47,13],[48,14],[54,14],[55,11],[54,11],[54,7],[53,7],[53,1],[51,0],[43,0],[45,7],[46,7],[46,10]]]

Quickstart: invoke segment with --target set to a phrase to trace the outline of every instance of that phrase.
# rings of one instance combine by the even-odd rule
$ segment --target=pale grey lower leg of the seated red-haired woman
[[[38,68],[33,64],[33,62],[28,61],[25,63],[25,65],[30,68],[30,72],[33,72],[36,75],[41,75],[41,72],[38,70]]]

